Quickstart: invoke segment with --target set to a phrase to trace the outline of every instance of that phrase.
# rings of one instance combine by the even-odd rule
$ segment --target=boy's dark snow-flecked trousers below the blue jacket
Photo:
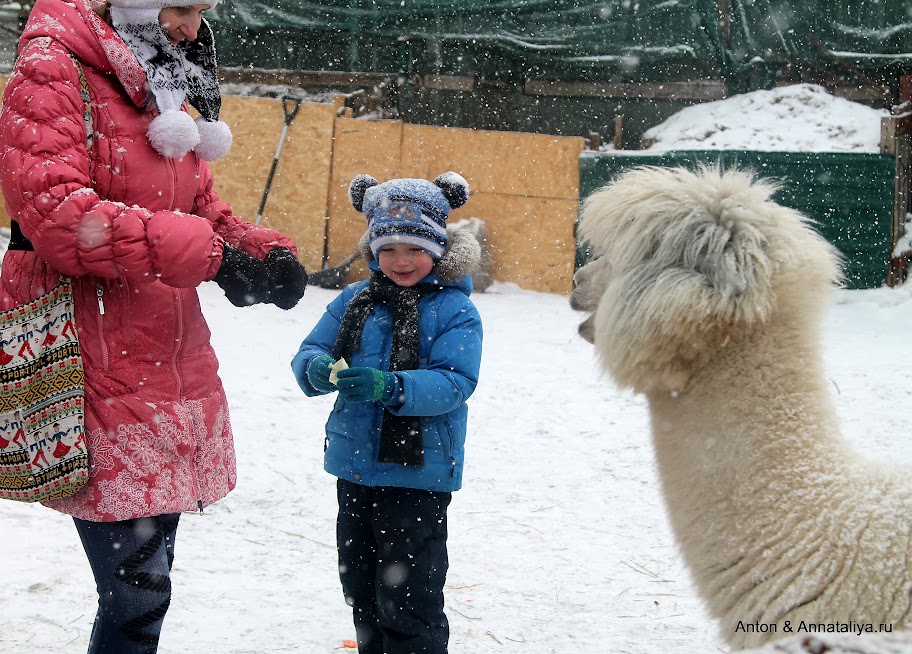
[[[451,493],[338,482],[339,577],[359,654],[446,654]]]

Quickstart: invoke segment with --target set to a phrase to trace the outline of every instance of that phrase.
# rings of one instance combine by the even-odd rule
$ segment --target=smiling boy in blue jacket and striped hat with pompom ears
[[[339,478],[339,576],[359,654],[447,652],[446,512],[462,485],[482,328],[469,299],[480,247],[446,220],[468,194],[453,172],[356,177],[371,277],[329,304],[291,363],[306,395],[339,392],[324,468]]]

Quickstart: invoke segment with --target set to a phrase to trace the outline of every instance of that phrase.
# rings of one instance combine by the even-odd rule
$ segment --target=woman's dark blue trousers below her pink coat
[[[88,654],[155,654],[171,604],[179,513],[87,522],[74,518],[98,590]]]

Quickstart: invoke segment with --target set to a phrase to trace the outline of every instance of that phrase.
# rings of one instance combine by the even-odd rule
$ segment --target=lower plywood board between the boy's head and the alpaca
[[[477,216],[488,228],[494,279],[547,293],[569,293],[576,253],[576,200],[476,193],[451,220]]]

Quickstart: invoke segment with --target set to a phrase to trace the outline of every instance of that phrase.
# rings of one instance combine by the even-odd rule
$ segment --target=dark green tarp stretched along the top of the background
[[[223,65],[769,86],[794,67],[894,80],[905,0],[222,0]]]

